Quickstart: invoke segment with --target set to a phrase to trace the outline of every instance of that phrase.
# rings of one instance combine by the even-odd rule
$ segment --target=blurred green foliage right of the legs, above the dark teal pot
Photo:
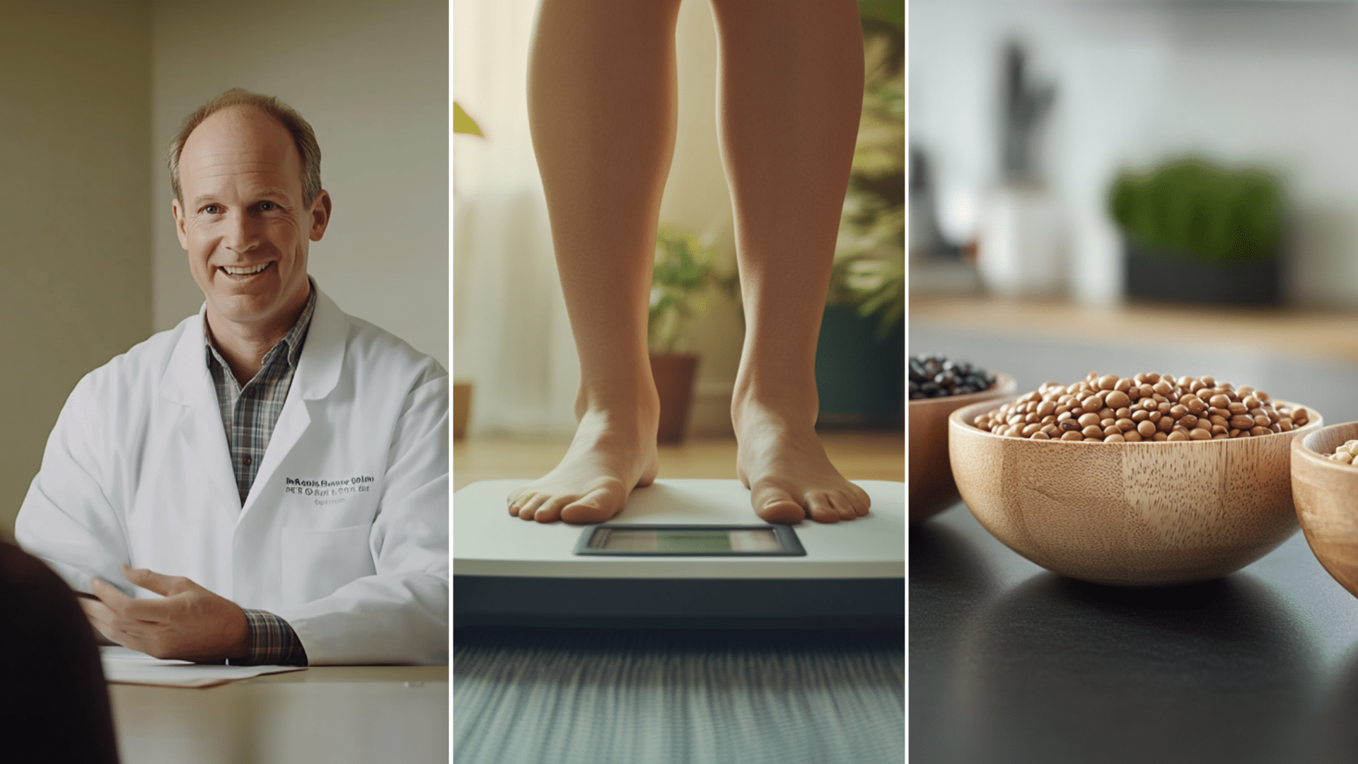
[[[862,118],[827,302],[876,317],[884,338],[906,310],[904,23],[888,3],[858,7],[866,58]]]

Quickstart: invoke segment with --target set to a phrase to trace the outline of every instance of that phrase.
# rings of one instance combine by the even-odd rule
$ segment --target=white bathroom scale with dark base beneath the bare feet
[[[866,517],[794,526],[760,521],[736,480],[657,480],[603,525],[527,522],[505,504],[524,483],[452,495],[455,628],[900,628],[904,619],[903,483],[854,481],[872,498]]]

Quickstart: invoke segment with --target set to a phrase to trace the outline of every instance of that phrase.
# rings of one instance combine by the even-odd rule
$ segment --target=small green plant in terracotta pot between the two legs
[[[660,394],[660,443],[682,443],[689,423],[693,383],[698,375],[698,353],[686,352],[689,319],[708,309],[706,292],[717,287],[733,296],[735,272],[722,275],[716,265],[716,249],[693,234],[661,226],[656,234],[656,265],[650,276],[650,313],[646,341],[650,375]]]

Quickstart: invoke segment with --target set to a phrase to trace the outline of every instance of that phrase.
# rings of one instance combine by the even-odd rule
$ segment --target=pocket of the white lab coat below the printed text
[[[330,530],[282,529],[282,601],[287,606],[329,597],[341,586],[373,575],[371,525]]]

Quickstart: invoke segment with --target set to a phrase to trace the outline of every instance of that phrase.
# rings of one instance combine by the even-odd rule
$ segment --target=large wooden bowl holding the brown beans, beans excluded
[[[1312,412],[1293,432],[1175,443],[1029,440],[971,424],[1005,402],[948,417],[961,499],[1014,552],[1114,586],[1219,578],[1286,541],[1297,532],[1291,442],[1324,424]]]

